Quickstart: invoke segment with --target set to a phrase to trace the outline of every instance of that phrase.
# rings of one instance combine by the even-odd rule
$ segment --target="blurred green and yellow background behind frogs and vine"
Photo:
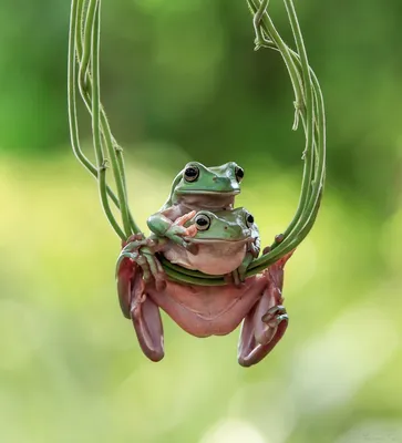
[[[297,1],[328,112],[328,179],[287,265],[289,329],[252,369],[237,332],[164,317],[142,354],[114,282],[120,241],[66,119],[69,1],[0,3],[0,441],[402,442],[402,3]],[[281,2],[271,2],[290,42]],[[303,135],[245,1],[103,2],[102,94],[145,228],[189,159],[246,169],[262,243],[289,223]],[[91,153],[83,114],[81,135]],[[90,154],[89,154],[90,155]]]

